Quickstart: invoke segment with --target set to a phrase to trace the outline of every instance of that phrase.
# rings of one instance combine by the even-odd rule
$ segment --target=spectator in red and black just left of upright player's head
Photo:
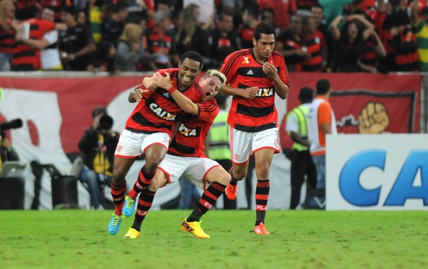
[[[248,2],[242,10],[242,27],[239,30],[241,47],[253,48],[255,27],[260,23],[260,8],[255,2]]]

